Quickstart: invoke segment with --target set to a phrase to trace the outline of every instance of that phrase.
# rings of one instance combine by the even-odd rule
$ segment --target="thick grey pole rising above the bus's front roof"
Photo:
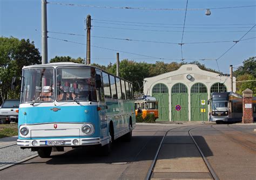
[[[47,47],[47,2],[42,0],[42,64],[48,63],[48,47]]]

